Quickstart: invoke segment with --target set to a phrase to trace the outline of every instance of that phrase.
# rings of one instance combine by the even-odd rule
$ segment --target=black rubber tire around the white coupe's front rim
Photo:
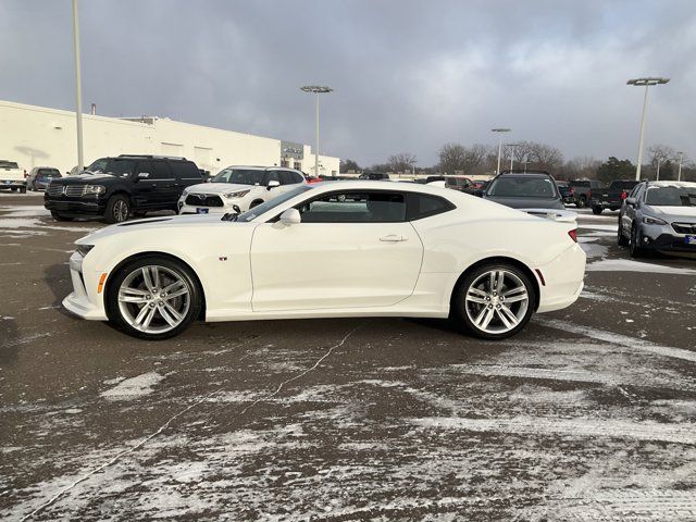
[[[158,266],[164,268],[173,273],[175,273],[182,281],[186,283],[188,289],[188,308],[186,313],[183,314],[183,320],[175,327],[167,330],[165,332],[159,333],[148,333],[142,332],[136,327],[134,327],[126,316],[123,315],[123,312],[119,302],[119,290],[123,282],[134,272],[142,269],[144,266]],[[164,284],[161,282],[161,284]],[[162,290],[162,288],[159,288]],[[203,303],[203,293],[198,283],[198,278],[194,274],[194,272],[182,261],[178,261],[173,258],[167,258],[163,256],[145,256],[133,261],[127,262],[123,266],[121,266],[116,273],[114,273],[108,281],[108,289],[107,289],[107,316],[109,321],[116,326],[122,332],[137,337],[139,339],[146,340],[163,340],[179,335],[186,328],[190,326],[190,324],[198,319],[201,312],[201,308]],[[150,303],[150,306],[152,302]],[[133,310],[133,313],[142,310],[142,308],[147,308],[148,304],[144,304],[142,308],[138,310],[138,304],[126,304],[128,310]],[[136,307],[133,309],[132,307]],[[164,320],[160,315],[159,318],[154,318],[152,321],[159,319],[159,323],[164,324]]]

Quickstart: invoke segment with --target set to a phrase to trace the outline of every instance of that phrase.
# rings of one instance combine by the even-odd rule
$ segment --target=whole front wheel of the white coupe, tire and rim
[[[181,334],[198,318],[202,290],[184,263],[149,256],[116,272],[107,302],[109,319],[126,334],[162,340]]]

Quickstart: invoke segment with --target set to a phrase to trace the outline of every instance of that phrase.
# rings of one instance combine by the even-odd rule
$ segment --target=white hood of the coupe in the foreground
[[[196,229],[202,226],[244,226],[249,224],[250,223],[237,223],[235,221],[222,221],[222,216],[220,214],[162,215],[145,220],[126,221],[125,223],[119,223],[116,225],[109,225],[92,234],[80,237],[75,241],[75,244],[96,245],[108,237],[129,234],[133,232],[147,231],[151,234],[158,234],[160,232],[167,233],[177,228],[186,228],[189,229],[191,234],[195,234]]]

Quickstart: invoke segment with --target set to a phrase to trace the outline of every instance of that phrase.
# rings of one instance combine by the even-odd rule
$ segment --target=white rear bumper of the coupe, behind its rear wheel
[[[584,286],[585,261],[585,252],[580,245],[574,244],[551,262],[538,266],[544,284],[539,281],[537,312],[561,310],[577,300]]]

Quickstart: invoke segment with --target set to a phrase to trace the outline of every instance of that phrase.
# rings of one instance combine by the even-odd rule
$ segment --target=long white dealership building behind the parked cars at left
[[[175,122],[169,117],[83,115],[85,164],[107,156],[185,157],[217,173],[228,165],[289,166],[315,175],[309,145]],[[54,166],[62,173],[77,164],[75,113],[0,100],[0,160],[27,172]],[[337,175],[339,159],[319,157],[319,175]]]

